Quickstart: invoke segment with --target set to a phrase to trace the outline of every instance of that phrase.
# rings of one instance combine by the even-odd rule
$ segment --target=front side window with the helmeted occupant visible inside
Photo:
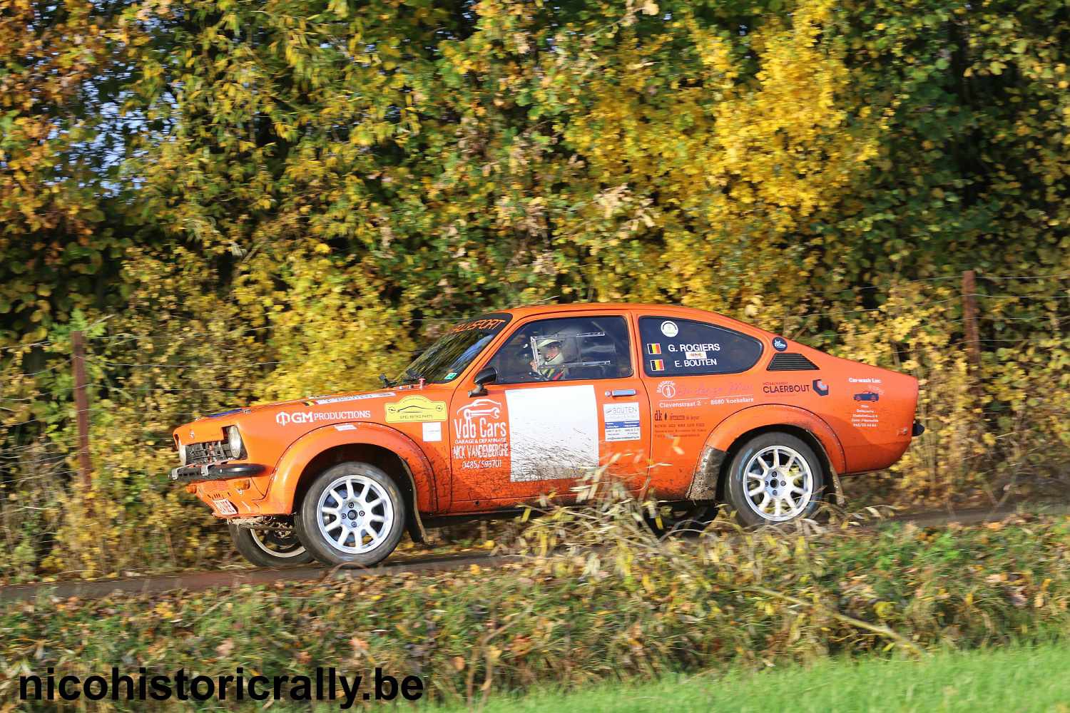
[[[623,316],[540,320],[517,329],[488,366],[499,384],[631,376]]]

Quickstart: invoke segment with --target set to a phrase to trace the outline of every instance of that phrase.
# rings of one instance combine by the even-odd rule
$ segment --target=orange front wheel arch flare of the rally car
[[[438,505],[434,472],[424,451],[404,434],[378,423],[333,424],[310,431],[279,459],[268,487],[263,511],[290,514],[316,476],[332,465],[356,461],[382,468],[397,482],[409,514],[406,523],[414,541],[425,539],[421,511]]]

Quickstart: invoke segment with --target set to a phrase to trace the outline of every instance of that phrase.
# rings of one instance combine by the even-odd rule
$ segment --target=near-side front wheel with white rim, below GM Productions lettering
[[[352,489],[346,487],[347,482]],[[321,510],[335,509],[335,503],[337,520]],[[348,462],[312,480],[294,524],[305,547],[324,564],[372,567],[397,547],[407,517],[404,498],[393,478],[368,463]]]

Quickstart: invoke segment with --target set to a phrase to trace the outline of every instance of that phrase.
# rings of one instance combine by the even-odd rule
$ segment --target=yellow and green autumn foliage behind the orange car
[[[16,3],[5,574],[214,561],[162,477],[175,423],[372,386],[533,301],[686,304],[912,372],[928,431],[861,482],[913,507],[1036,492],[1070,453],[1070,28],[1056,0],[1018,11]]]

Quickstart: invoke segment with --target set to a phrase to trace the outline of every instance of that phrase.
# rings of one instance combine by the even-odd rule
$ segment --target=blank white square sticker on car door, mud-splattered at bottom
[[[505,401],[510,481],[576,478],[598,467],[598,402],[593,385],[510,389]]]

